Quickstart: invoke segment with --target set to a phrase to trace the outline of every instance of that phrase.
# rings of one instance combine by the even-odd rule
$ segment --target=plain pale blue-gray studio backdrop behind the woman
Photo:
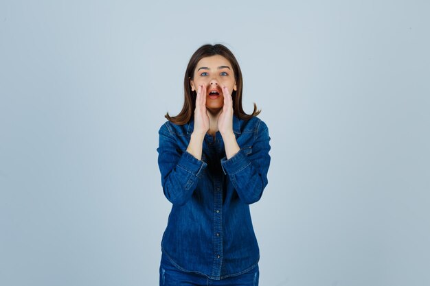
[[[157,285],[192,52],[271,134],[260,285],[430,285],[429,1],[0,2],[0,285]]]

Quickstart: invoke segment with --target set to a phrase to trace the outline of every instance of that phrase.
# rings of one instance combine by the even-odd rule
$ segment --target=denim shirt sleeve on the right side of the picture
[[[270,136],[267,125],[260,121],[257,139],[251,146],[251,153],[239,150],[234,156],[223,158],[221,165],[229,176],[239,198],[247,204],[260,200],[267,186],[267,172],[270,165]]]

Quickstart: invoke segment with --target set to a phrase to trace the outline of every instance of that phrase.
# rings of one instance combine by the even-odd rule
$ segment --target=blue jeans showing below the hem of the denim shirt
[[[212,280],[207,276],[183,272],[174,267],[165,255],[161,255],[160,286],[258,286],[258,265],[244,274],[221,280]]]

